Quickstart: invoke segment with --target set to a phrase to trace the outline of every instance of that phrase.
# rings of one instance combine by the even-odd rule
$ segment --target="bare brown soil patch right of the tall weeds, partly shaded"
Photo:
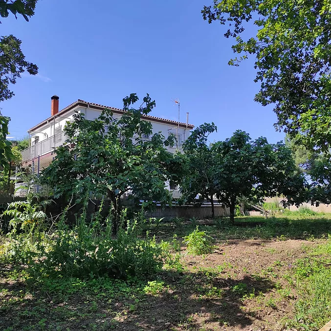
[[[312,244],[238,240],[220,245],[204,258],[186,255],[185,264],[192,273],[174,291],[149,300],[141,326],[144,330],[282,330],[296,300],[287,274],[295,259],[303,256],[303,248]],[[221,271],[210,275],[213,270]],[[209,287],[209,295],[203,290],[199,293],[199,283]],[[151,317],[157,323],[151,324]]]

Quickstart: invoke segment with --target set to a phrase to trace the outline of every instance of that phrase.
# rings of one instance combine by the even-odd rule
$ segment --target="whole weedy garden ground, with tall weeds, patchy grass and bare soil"
[[[2,237],[1,330],[318,330],[331,318],[330,215],[142,230],[142,214],[123,214],[116,237],[99,212],[64,219]]]

